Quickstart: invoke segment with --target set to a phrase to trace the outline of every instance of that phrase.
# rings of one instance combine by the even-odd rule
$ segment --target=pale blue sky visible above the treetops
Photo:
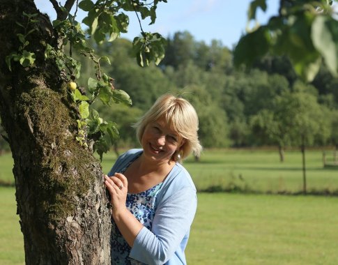
[[[48,0],[34,0],[40,12],[47,13],[55,20],[56,13]],[[164,38],[173,36],[177,31],[189,31],[194,40],[210,45],[211,40],[220,40],[222,45],[236,45],[247,26],[247,9],[252,0],[167,0],[160,2],[155,24],[148,26],[150,20],[142,22],[144,31],[158,32]],[[61,4],[65,0],[59,0]],[[151,1],[149,1],[151,2]],[[268,0],[266,13],[257,13],[258,21],[264,24],[271,15],[277,14],[277,0]],[[74,14],[74,9],[71,12]],[[79,10],[77,17],[82,20],[84,11]],[[139,22],[135,13],[129,14],[128,33],[121,37],[132,40],[139,36]],[[252,26],[252,24],[250,24]]]

